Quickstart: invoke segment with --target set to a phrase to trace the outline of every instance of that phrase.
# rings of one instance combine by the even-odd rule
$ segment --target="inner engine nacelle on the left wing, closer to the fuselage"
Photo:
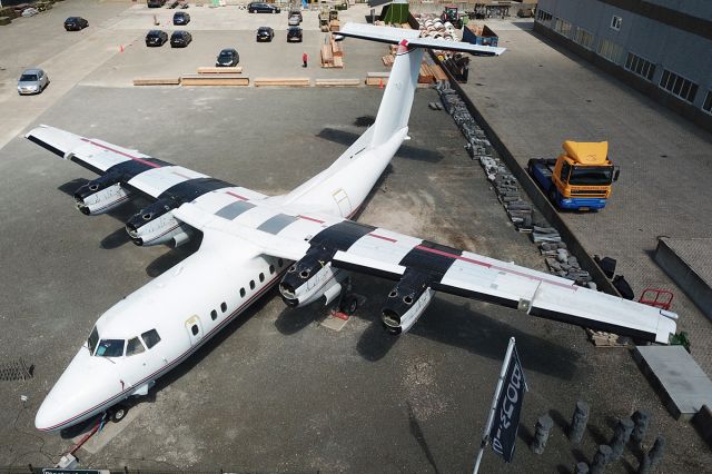
[[[151,246],[170,244],[178,247],[190,240],[190,227],[174,217],[175,203],[159,199],[135,214],[126,223],[126,231],[134,244]]]

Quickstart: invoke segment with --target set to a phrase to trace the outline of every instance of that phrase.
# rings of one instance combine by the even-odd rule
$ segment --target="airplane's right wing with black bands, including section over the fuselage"
[[[255,204],[233,217],[205,204],[184,205],[176,217],[204,231],[250,241],[265,254],[299,260],[296,268],[306,275],[330,264],[397,280],[402,289],[448,293],[636,339],[666,344],[675,333],[674,313],[512,263],[330,215]],[[309,261],[318,266],[308,268]]]

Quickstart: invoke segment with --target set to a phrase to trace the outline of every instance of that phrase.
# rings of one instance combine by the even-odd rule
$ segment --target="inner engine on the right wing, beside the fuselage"
[[[291,307],[300,307],[324,297],[332,303],[342,293],[342,282],[346,271],[332,266],[334,251],[326,246],[312,247],[295,263],[279,284],[281,299]]]

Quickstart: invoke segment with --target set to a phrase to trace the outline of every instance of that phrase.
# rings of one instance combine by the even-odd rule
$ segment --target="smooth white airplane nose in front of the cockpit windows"
[[[120,402],[123,387],[115,364],[82,347],[34,416],[34,427],[53,432],[82,422]]]

